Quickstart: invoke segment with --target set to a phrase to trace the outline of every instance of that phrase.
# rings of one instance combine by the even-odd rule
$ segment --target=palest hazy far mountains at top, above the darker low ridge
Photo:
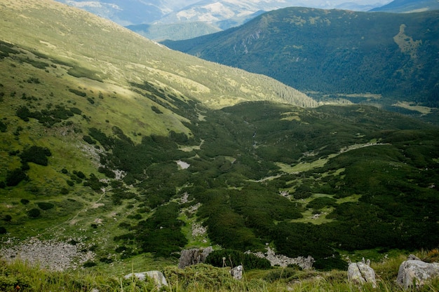
[[[102,18],[107,18],[119,25],[139,25],[144,23],[180,22],[177,13],[191,14],[185,20],[212,21],[209,9],[206,7],[220,7],[216,14],[219,19],[227,20],[238,15],[251,15],[257,11],[271,11],[288,6],[306,6],[323,9],[348,9],[353,11],[368,11],[372,8],[384,6],[390,0],[56,0],[84,9]],[[201,9],[201,11],[199,10]],[[227,12],[228,11],[228,12]],[[203,12],[205,15],[202,15]],[[226,13],[227,12],[227,13]],[[229,15],[229,17],[227,17]],[[216,20],[216,21],[217,21]]]

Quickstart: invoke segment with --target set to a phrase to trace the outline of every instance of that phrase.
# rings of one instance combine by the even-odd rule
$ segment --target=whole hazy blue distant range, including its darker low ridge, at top
[[[148,39],[158,40],[190,39],[210,34],[241,25],[266,11],[288,6],[367,11],[389,3],[389,0],[374,2],[367,0],[355,2],[346,0],[331,2],[322,0],[58,1],[127,26]]]

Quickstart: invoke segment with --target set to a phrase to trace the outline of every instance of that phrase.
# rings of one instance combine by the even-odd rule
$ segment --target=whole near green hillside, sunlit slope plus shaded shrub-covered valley
[[[438,246],[438,127],[318,106],[54,1],[0,6],[5,260],[38,239],[126,274],[268,243],[324,270]]]

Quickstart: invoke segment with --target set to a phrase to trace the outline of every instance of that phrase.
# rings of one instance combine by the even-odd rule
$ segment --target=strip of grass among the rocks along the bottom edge
[[[245,272],[243,279],[235,280],[229,268],[194,265],[184,269],[166,267],[163,274],[168,287],[157,288],[154,281],[123,279],[101,272],[74,270],[53,272],[32,267],[16,260],[0,262],[0,291],[403,291],[395,283],[403,256],[373,265],[378,287],[355,286],[347,281],[345,271],[300,271],[274,267],[271,270]],[[438,291],[439,279],[434,279],[417,291]]]

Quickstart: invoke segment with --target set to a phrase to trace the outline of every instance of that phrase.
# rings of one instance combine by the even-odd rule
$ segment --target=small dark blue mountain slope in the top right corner
[[[439,1],[437,0],[394,0],[384,6],[372,8],[370,11],[413,13],[438,9]]]

